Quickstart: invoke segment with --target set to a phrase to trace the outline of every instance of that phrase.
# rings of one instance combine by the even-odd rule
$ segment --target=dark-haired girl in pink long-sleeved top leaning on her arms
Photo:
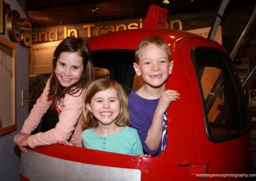
[[[37,99],[20,133],[14,136],[14,142],[22,152],[27,152],[27,146],[35,148],[61,140],[82,147],[81,113],[86,87],[94,77],[92,56],[86,41],[74,36],[65,38],[54,51],[52,65],[53,72],[44,92]],[[30,135],[52,104],[59,113],[56,127],[45,133]]]

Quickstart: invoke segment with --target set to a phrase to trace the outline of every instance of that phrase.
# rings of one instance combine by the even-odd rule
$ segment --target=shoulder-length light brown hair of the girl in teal
[[[92,84],[88,87],[86,92],[86,97],[84,101],[83,108],[83,128],[87,129],[88,127],[98,127],[98,120],[93,116],[93,113],[90,112],[86,105],[90,104],[93,96],[97,94],[97,92],[105,91],[109,88],[113,88],[116,90],[118,94],[118,99],[120,100],[120,114],[115,120],[115,124],[117,126],[128,126],[129,125],[129,112],[128,112],[128,98],[127,95],[122,88],[122,86],[111,78],[100,78],[92,82]]]

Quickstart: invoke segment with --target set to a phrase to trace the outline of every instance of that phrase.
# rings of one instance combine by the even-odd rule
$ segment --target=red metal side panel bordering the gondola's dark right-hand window
[[[188,74],[188,86],[191,96],[192,117],[195,119],[196,147],[198,149],[198,164],[209,164],[208,173],[247,173],[249,166],[250,143],[249,134],[222,143],[212,143],[205,133],[204,112],[200,101],[199,87],[196,85],[196,75],[191,62],[190,52],[196,46],[211,46],[224,50],[217,43],[209,40],[182,40],[179,43],[180,54],[184,68]],[[232,177],[207,177],[207,180],[233,180]],[[243,180],[244,178],[237,178]]]

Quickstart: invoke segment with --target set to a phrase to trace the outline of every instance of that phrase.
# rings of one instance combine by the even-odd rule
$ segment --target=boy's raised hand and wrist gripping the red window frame
[[[180,97],[179,92],[174,91],[174,90],[166,90],[164,91],[160,98],[159,98],[159,102],[157,105],[157,109],[159,112],[164,113],[166,112],[168,106],[170,105],[170,103],[172,101],[177,101],[177,99],[179,99]]]

